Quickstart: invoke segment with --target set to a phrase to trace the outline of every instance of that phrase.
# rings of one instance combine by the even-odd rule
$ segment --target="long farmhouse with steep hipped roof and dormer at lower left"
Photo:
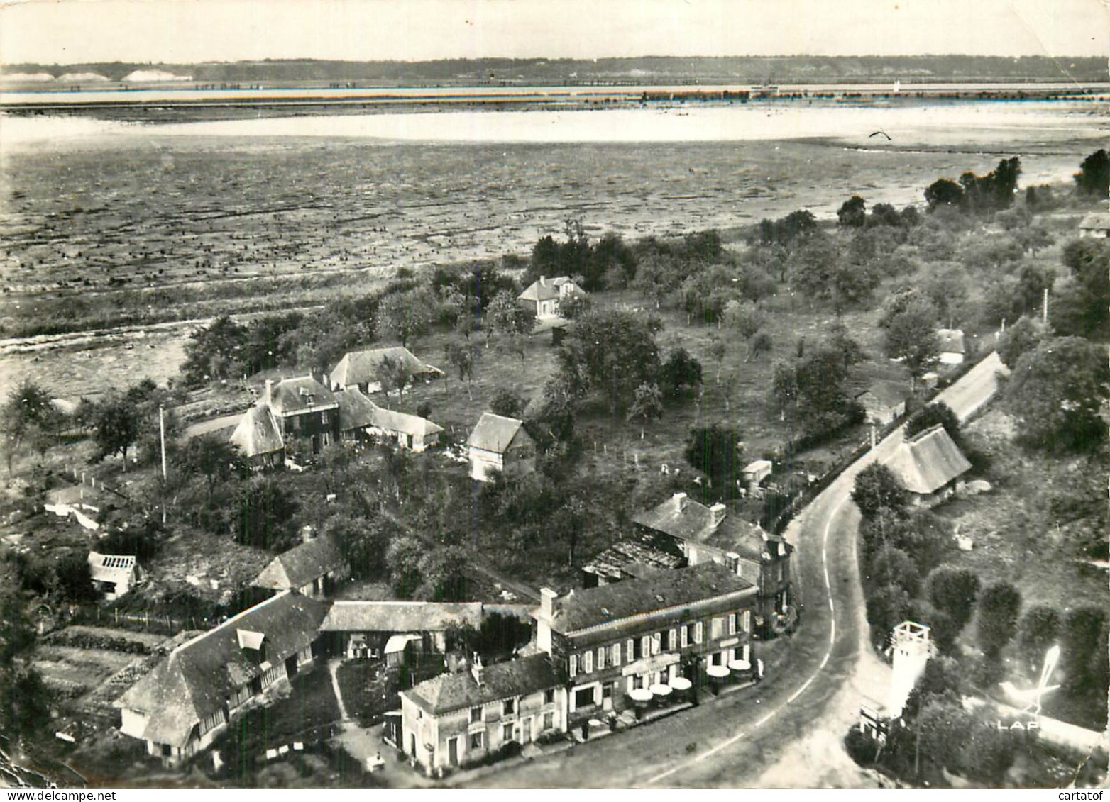
[[[178,764],[211,745],[250,702],[312,666],[324,605],[283,591],[189,640],[115,702],[120,731]]]

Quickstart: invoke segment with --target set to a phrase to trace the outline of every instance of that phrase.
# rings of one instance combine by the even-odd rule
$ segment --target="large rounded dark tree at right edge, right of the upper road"
[[[1058,337],[1018,359],[1002,402],[1020,422],[1025,443],[1066,453],[1092,450],[1106,439],[1100,410],[1108,397],[1104,348],[1080,337]]]

